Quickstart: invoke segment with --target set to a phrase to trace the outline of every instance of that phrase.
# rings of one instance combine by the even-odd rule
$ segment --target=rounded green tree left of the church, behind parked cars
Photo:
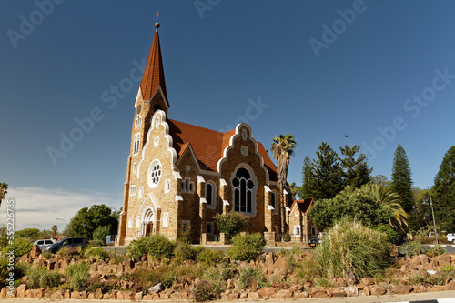
[[[74,237],[86,237],[91,240],[97,227],[108,226],[110,233],[115,234],[117,225],[118,220],[112,216],[111,208],[101,204],[80,209],[76,216],[71,218],[68,229]]]

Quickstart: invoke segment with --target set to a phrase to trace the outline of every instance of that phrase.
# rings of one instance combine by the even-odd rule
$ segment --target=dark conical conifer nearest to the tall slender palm
[[[339,156],[326,142],[319,146],[316,156],[312,168],[314,186],[307,194],[315,200],[335,197],[343,189]]]

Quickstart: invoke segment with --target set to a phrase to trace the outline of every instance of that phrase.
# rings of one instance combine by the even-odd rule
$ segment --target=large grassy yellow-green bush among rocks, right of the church
[[[383,272],[392,262],[391,249],[386,234],[341,219],[315,250],[325,277],[342,278],[346,270],[351,270],[362,278]]]

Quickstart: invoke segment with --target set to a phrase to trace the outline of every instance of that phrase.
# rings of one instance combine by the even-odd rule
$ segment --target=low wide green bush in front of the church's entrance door
[[[143,237],[138,240],[132,241],[128,247],[128,255],[131,258],[140,258],[152,255],[154,258],[172,258],[174,257],[174,249],[176,242],[172,242],[163,235],[153,235],[150,237]]]

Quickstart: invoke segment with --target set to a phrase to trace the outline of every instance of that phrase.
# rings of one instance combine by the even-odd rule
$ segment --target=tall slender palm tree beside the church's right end
[[[277,159],[277,181],[278,181],[278,201],[279,201],[279,214],[281,217],[281,234],[284,235],[286,232],[286,216],[285,216],[285,200],[284,200],[284,188],[287,185],[288,178],[288,166],[290,157],[294,154],[294,148],[296,147],[296,141],[292,135],[279,135],[273,138],[272,153],[273,157]]]

